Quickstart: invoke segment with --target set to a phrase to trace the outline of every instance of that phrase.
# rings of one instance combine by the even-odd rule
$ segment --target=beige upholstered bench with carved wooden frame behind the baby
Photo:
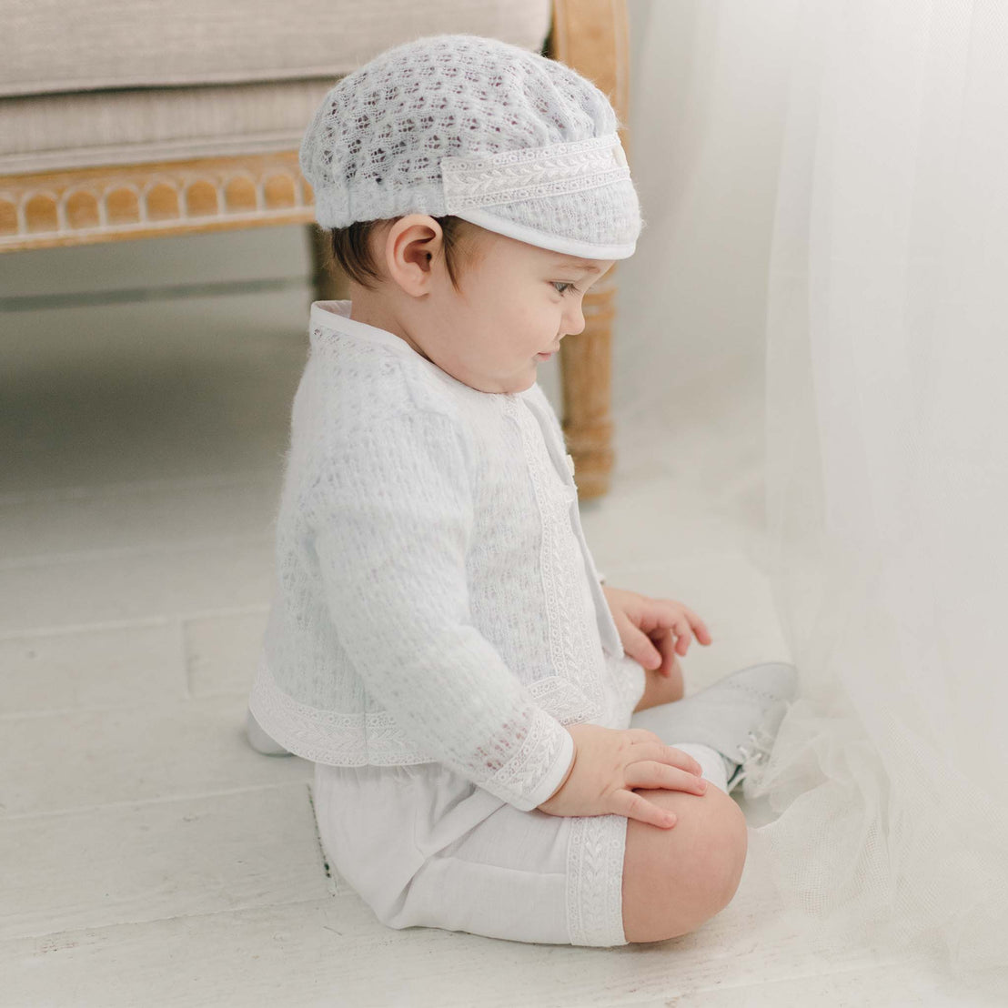
[[[562,59],[627,119],[625,0],[0,0],[0,251],[303,223],[314,296],[347,297],[313,223],[301,134],[377,52],[469,32]],[[629,151],[628,137],[621,134]],[[618,264],[560,351],[582,499],[613,466]]]

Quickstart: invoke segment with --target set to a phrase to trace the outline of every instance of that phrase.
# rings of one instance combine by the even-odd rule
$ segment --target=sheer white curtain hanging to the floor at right
[[[723,116],[748,128],[746,108],[769,127],[719,159],[739,188],[775,174],[749,333],[765,352],[768,573],[801,677],[764,782],[777,817],[754,841],[810,927],[1004,983],[1008,5],[631,8],[649,222],[647,259],[624,268],[631,316],[671,271],[659,238],[689,193],[673,184],[683,160],[710,142],[698,135],[728,135]],[[740,85],[740,67],[759,73]],[[735,103],[710,100],[733,75]],[[723,207],[708,210],[731,247]],[[641,331],[671,367],[672,342]],[[646,408],[667,386],[639,387]]]

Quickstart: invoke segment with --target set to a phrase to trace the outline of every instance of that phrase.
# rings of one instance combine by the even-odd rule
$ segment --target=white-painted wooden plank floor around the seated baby
[[[0,316],[0,1004],[994,1004],[926,962],[813,948],[753,859],[696,933],[615,950],[396,931],[331,877],[311,765],[242,734],[308,299]],[[611,583],[708,622],[690,692],[788,657],[760,573],[760,366],[622,420],[612,492],[583,507]]]

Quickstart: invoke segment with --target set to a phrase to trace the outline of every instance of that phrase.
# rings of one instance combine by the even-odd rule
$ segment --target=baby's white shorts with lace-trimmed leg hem
[[[619,661],[622,674],[633,676],[622,691],[630,707],[607,727],[627,728],[644,670],[630,658]],[[627,943],[625,815],[522,811],[442,763],[317,763],[313,794],[330,864],[389,927]]]

